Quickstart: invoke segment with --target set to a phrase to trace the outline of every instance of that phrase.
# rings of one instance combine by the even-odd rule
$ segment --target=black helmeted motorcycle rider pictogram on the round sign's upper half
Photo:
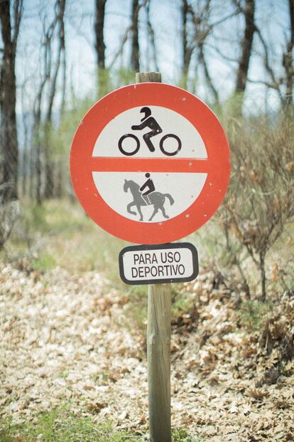
[[[133,125],[131,126],[132,130],[143,130],[145,127],[149,127],[151,129],[150,132],[147,132],[143,135],[143,140],[146,143],[146,146],[150,150],[150,152],[155,151],[155,147],[153,146],[153,142],[151,142],[151,137],[155,137],[156,135],[159,135],[163,130],[161,129],[160,125],[158,125],[158,122],[155,120],[154,117],[151,117],[151,109],[149,107],[142,107],[140,113],[143,113],[144,116],[141,119],[140,125]],[[128,146],[126,146],[126,140],[134,140],[132,143],[128,143]],[[175,142],[173,143],[167,143],[166,140],[173,139]],[[130,146],[131,144],[131,146]],[[180,149],[182,147],[182,142],[178,135],[175,134],[167,134],[164,135],[159,142],[159,148],[163,154],[167,155],[168,157],[173,157],[174,155],[178,154],[180,152]],[[140,149],[140,140],[136,135],[134,134],[125,134],[119,139],[119,151],[127,156],[135,155],[138,150]]]

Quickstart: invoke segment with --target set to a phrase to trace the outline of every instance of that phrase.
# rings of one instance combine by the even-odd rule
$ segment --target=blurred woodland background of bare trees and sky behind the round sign
[[[229,191],[191,241],[213,288],[266,334],[268,354],[283,349],[280,376],[294,354],[293,0],[0,0],[0,20],[2,261],[28,272],[98,270],[127,290],[115,270],[123,242],[97,233],[75,201],[70,144],[98,98],[159,71],[227,132]],[[144,296],[134,295],[137,307]],[[183,318],[191,305],[181,299]]]

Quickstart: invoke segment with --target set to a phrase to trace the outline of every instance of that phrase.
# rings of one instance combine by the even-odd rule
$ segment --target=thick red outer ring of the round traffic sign
[[[167,107],[189,120],[205,143],[209,162],[215,164],[209,168],[205,185],[194,203],[178,216],[160,223],[131,220],[111,209],[99,195],[91,169],[94,144],[109,121],[132,107],[148,105]],[[229,184],[229,172],[229,144],[212,110],[195,95],[165,83],[124,86],[99,100],[77,127],[70,152],[72,185],[82,207],[105,231],[132,243],[168,243],[196,231],[222,203]]]

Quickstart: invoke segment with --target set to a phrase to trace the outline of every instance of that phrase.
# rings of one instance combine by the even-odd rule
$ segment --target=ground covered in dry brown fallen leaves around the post
[[[294,301],[256,313],[212,273],[180,290],[192,308],[173,320],[173,426],[202,441],[294,441]],[[130,305],[99,273],[0,263],[1,419],[67,403],[144,440],[145,340]]]

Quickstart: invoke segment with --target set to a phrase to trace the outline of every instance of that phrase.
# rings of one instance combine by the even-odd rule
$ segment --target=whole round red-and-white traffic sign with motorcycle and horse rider
[[[229,183],[229,145],[195,95],[163,83],[99,100],[72,141],[72,184],[91,218],[133,243],[176,241],[200,228]]]

